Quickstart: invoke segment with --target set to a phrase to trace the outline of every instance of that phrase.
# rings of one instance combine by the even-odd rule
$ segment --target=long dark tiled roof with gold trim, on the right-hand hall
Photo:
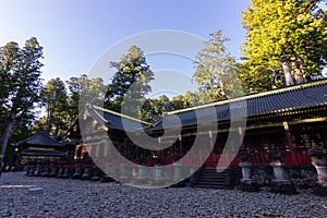
[[[327,80],[169,112],[146,128],[156,131],[327,105]],[[175,122],[179,119],[180,122]]]

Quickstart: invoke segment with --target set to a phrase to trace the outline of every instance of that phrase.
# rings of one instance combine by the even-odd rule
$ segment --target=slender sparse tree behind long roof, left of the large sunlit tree
[[[222,36],[221,31],[210,34],[205,47],[196,56],[193,77],[199,84],[197,97],[207,95],[202,102],[222,100],[240,95],[234,82],[238,80],[239,64],[226,50],[225,43],[229,38]],[[201,93],[204,93],[201,94]],[[242,93],[242,92],[241,92]]]

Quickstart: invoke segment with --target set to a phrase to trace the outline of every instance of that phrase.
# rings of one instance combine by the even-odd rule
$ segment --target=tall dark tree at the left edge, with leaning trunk
[[[1,154],[13,132],[35,118],[34,107],[40,100],[43,47],[32,37],[20,48],[9,43],[0,48],[0,134]]]

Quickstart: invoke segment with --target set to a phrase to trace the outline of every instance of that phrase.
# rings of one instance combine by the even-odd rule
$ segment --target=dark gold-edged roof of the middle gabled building
[[[102,125],[116,130],[134,132],[150,124],[97,106],[87,107],[87,111]]]

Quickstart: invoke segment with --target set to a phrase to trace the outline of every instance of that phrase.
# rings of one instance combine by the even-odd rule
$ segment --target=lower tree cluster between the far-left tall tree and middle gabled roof
[[[51,78],[43,92],[43,105],[47,116],[38,119],[32,132],[45,132],[60,137],[77,119],[78,109],[85,104],[99,105],[104,101],[106,87],[101,78],[88,78],[82,74],[71,77],[65,84],[59,78]]]

